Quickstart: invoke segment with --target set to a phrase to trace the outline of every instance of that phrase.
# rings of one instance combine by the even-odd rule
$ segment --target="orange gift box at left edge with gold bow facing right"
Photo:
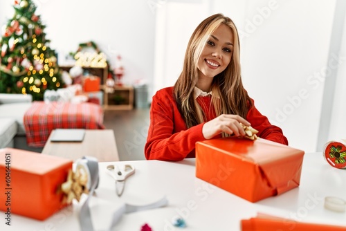
[[[65,207],[58,187],[73,161],[33,151],[0,149],[0,210],[44,220]]]

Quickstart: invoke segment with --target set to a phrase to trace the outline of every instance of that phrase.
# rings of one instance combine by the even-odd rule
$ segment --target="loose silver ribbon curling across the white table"
[[[91,188],[89,189],[89,195],[80,207],[80,213],[79,213],[79,221],[80,221],[80,228],[82,231],[94,231],[93,228],[93,222],[91,221],[91,212],[89,208],[89,200],[91,196],[93,195],[93,192],[95,192],[95,189],[98,187],[98,181],[99,181],[99,175],[98,175],[98,160],[94,157],[90,156],[84,156],[82,158],[82,161],[86,162],[86,166],[89,168],[90,177],[91,177]],[[127,203],[123,203],[118,210],[113,212],[111,225],[109,225],[109,228],[107,230],[112,230],[116,223],[118,223],[119,219],[121,218],[122,214],[128,214],[131,212],[138,212],[143,210],[151,210],[158,207],[164,207],[167,205],[168,200],[164,196],[159,201],[156,201],[154,203],[148,204],[148,205],[129,205]]]

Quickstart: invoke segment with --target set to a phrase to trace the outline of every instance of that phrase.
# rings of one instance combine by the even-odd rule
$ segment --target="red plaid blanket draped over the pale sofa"
[[[44,147],[53,129],[104,129],[100,105],[35,101],[24,115],[30,147]]]

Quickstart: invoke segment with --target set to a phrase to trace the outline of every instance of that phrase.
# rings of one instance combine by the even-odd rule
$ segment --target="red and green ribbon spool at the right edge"
[[[322,154],[332,167],[346,169],[346,140],[327,142]]]

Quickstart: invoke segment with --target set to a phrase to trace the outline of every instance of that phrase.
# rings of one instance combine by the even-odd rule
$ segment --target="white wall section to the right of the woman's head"
[[[307,152],[316,151],[324,84],[316,73],[327,64],[334,7],[325,0],[248,1],[247,22],[261,21],[258,9],[271,11],[244,37],[244,84],[289,145]]]

